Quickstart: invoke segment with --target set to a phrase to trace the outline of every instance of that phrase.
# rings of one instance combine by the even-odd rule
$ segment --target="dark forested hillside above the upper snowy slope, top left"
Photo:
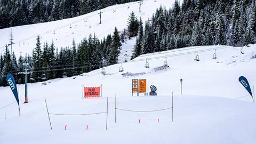
[[[0,29],[48,22],[138,0],[0,0]]]

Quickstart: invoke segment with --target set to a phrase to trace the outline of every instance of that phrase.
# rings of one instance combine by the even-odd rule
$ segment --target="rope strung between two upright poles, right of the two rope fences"
[[[169,110],[169,109],[172,109],[172,122],[173,122],[173,92],[172,92],[172,107],[156,109],[156,110],[130,110],[130,109],[117,108],[116,107],[116,94],[115,94],[115,123],[116,123],[116,110],[129,111],[129,112],[135,112],[135,113],[150,113],[150,112],[163,111],[163,110]]]

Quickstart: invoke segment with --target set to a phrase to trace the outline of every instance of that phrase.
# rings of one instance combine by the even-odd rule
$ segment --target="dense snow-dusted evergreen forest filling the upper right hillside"
[[[140,54],[199,45],[244,46],[256,41],[253,1],[184,0],[171,9],[159,7],[139,23],[132,59]]]

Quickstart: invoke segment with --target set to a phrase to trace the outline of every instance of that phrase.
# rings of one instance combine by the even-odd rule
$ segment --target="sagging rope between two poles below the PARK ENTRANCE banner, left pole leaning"
[[[104,112],[99,112],[99,113],[87,113],[87,114],[57,114],[57,113],[49,113],[49,109],[47,106],[47,102],[46,102],[46,98],[44,98],[45,100],[45,105],[46,105],[46,109],[47,109],[47,115],[49,118],[49,123],[51,126],[51,130],[52,130],[52,123],[51,123],[51,119],[50,119],[50,115],[58,115],[58,116],[84,116],[84,115],[98,115],[98,114],[106,114],[106,130],[108,129],[108,97],[107,97],[107,110]]]

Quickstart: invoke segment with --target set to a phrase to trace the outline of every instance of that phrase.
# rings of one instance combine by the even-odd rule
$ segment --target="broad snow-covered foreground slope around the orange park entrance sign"
[[[127,42],[129,46],[129,42]],[[131,47],[131,46],[130,46]],[[125,48],[128,50],[128,48]],[[218,59],[213,60],[216,49]],[[10,87],[0,87],[1,143],[255,143],[256,105],[238,82],[245,76],[251,87],[256,85],[256,45],[244,47],[195,46],[183,49],[140,55],[121,64],[106,67],[106,74],[94,70],[84,76],[60,78],[28,84],[29,103],[21,103],[18,117]],[[196,51],[200,61],[195,61]],[[170,68],[162,69],[165,57]],[[149,69],[146,69],[146,59]],[[158,96],[131,97],[132,79],[147,79],[157,86]],[[182,96],[180,78],[183,78]],[[102,98],[82,99],[82,85],[102,86]],[[24,100],[24,85],[18,85],[20,100]],[[170,108],[174,93],[174,122],[172,110],[151,113],[116,111]],[[86,114],[106,111],[106,114],[83,116],[50,115],[50,113]],[[140,119],[140,123],[138,122]],[[159,119],[159,123],[157,122]],[[67,125],[67,130],[64,130]],[[86,130],[86,126],[89,129]]]

